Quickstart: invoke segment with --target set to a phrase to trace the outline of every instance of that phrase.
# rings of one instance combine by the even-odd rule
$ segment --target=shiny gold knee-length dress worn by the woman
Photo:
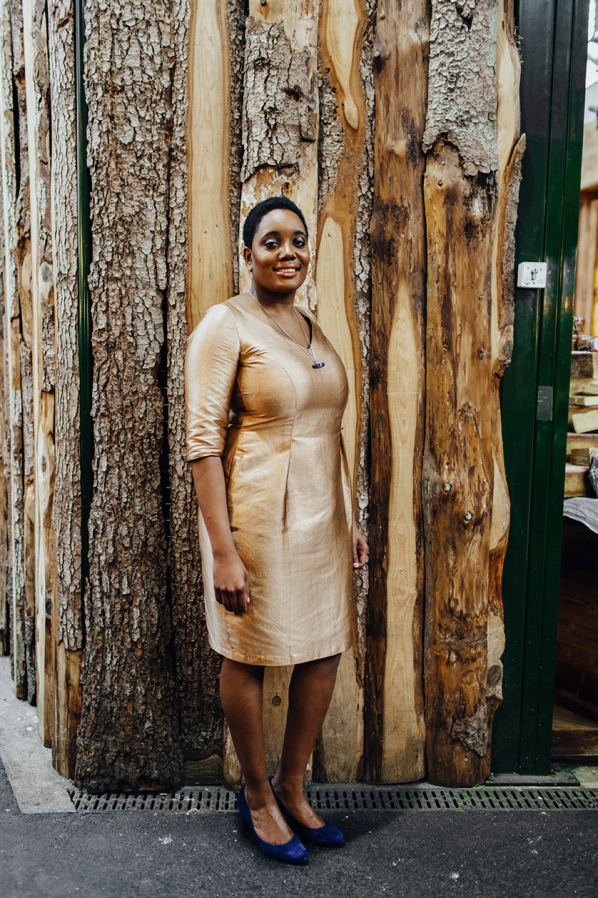
[[[313,315],[311,359],[257,306],[212,306],[186,350],[187,460],[220,455],[232,538],[249,574],[246,614],[214,597],[202,516],[205,617],[220,655],[292,665],[351,644],[351,488],[342,446],[349,393]]]

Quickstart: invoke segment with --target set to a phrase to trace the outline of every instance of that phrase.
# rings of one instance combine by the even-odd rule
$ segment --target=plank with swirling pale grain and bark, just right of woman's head
[[[369,4],[325,0],[319,22],[319,198],[317,318],[347,369],[343,438],[356,513],[368,533],[369,218],[373,196],[373,23]],[[315,777],[363,775],[363,686],[367,573],[355,576],[355,628],[341,659],[322,733]]]

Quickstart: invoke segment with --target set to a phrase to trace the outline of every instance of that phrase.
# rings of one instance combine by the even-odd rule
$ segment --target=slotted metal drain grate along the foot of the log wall
[[[598,810],[598,788],[477,786],[440,788],[437,786],[385,787],[328,786],[308,788],[308,802],[316,811],[582,811]],[[71,799],[77,811],[233,811],[237,797],[230,789],[182,788],[177,792],[110,792],[89,795],[74,791]]]

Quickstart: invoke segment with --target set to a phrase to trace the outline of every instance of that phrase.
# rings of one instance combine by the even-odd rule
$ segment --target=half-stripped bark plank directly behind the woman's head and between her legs
[[[239,233],[249,209],[261,199],[284,194],[298,204],[308,224],[311,266],[299,303],[316,308],[317,220],[317,22],[316,0],[296,4],[250,0],[245,28],[243,166]],[[290,101],[292,95],[292,101]],[[275,121],[275,128],[271,123]],[[239,237],[239,244],[242,237]],[[239,292],[251,279],[239,270]],[[291,667],[267,667],[264,677],[264,733],[268,772],[282,749]],[[228,757],[225,770],[238,770]],[[307,781],[311,779],[311,762]]]

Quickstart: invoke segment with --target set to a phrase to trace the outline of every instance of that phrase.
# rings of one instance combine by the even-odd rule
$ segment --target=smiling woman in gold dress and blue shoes
[[[308,805],[303,777],[351,645],[351,560],[362,568],[368,546],[342,447],[347,376],[315,317],[293,305],[308,274],[305,219],[289,199],[266,199],[243,240],[249,292],[212,306],[189,338],[187,459],[210,644],[245,777],[241,819],[266,854],[303,863],[298,834],[344,841]],[[279,665],[295,667],[271,785],[262,693],[264,666]]]

